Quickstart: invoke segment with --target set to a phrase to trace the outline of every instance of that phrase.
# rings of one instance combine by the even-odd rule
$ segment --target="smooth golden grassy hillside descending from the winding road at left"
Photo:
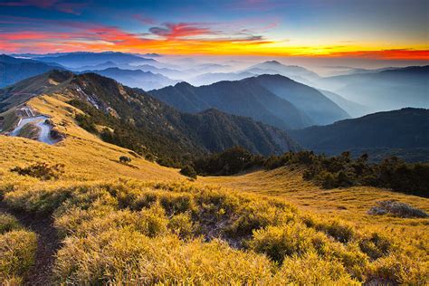
[[[55,146],[49,146],[25,138],[0,136],[0,175],[15,166],[24,167],[33,162],[65,165],[64,179],[99,180],[129,176],[145,180],[186,179],[173,168],[160,167],[143,158],[133,157],[129,150],[104,143],[73,122],[75,110],[59,97],[34,98],[29,102],[35,110],[52,116],[52,121],[67,138]],[[70,112],[70,111],[71,112]],[[132,158],[131,166],[119,164],[120,156]]]

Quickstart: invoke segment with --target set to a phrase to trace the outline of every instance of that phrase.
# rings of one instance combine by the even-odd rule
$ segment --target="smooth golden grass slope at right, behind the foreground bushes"
[[[302,179],[302,170],[281,167],[271,171],[256,171],[237,176],[199,177],[198,182],[281,197],[301,210],[321,215],[338,216],[348,222],[386,229],[399,237],[422,237],[429,232],[429,219],[396,218],[367,215],[367,210],[379,200],[398,200],[429,212],[429,199],[404,195],[370,186],[354,186],[325,190]]]

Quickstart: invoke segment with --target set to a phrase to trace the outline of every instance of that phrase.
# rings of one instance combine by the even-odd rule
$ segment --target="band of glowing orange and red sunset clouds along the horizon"
[[[0,20],[12,23],[24,18]],[[398,48],[377,50],[369,47],[341,46],[293,46],[287,41],[274,41],[246,33],[224,33],[196,23],[163,24],[152,27],[151,34],[128,33],[118,27],[86,24],[59,23],[41,20],[46,25],[58,27],[55,31],[15,31],[0,33],[0,51],[4,52],[74,52],[118,51],[159,52],[166,54],[207,55],[264,55],[342,57],[381,60],[429,60],[429,51],[424,49]],[[32,27],[37,27],[34,24]],[[66,28],[64,28],[66,27]],[[365,51],[367,50],[367,51]]]

